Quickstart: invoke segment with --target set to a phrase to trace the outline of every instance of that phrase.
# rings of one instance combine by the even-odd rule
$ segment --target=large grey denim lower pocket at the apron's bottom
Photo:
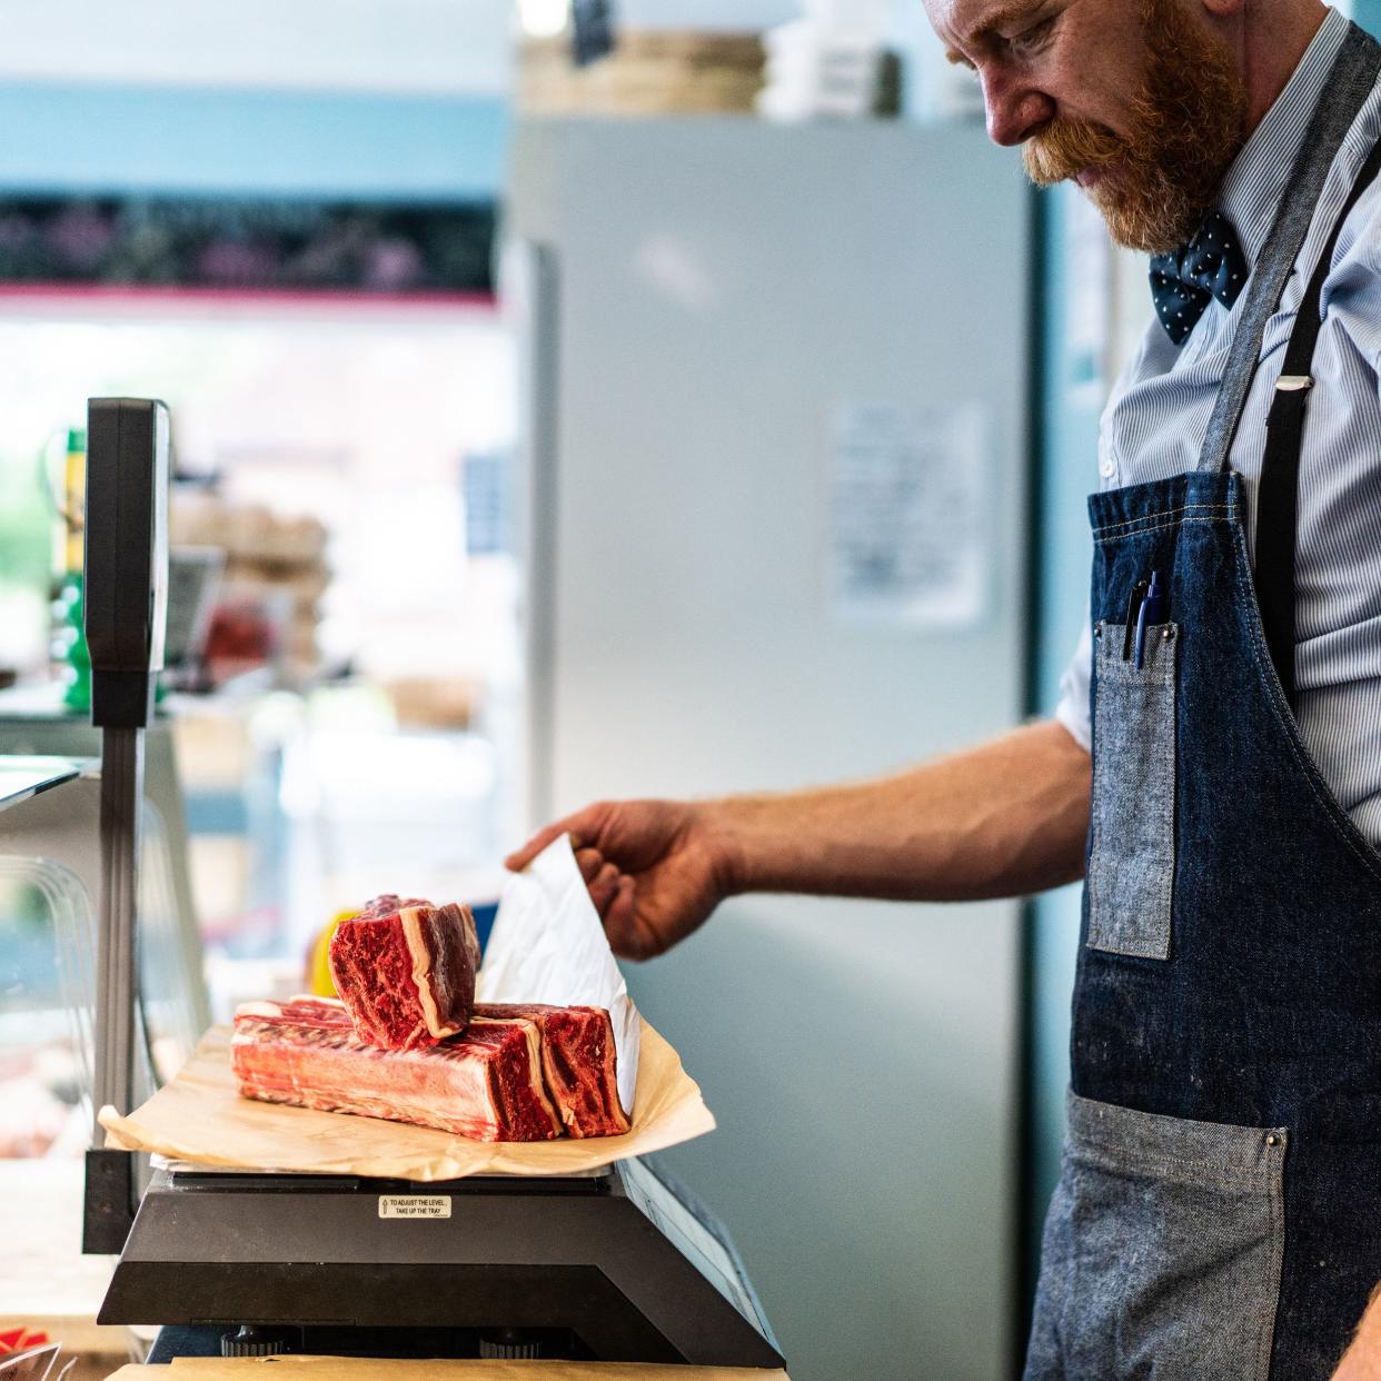
[[[1265,1381],[1286,1142],[1070,1094],[1029,1381]]]

